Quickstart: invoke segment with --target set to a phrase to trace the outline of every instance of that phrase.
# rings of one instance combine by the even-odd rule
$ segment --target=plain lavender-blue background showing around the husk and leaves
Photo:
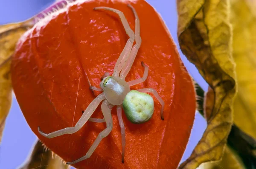
[[[154,6],[166,22],[176,44],[177,41],[177,11],[175,0],[146,0]],[[54,0],[1,0],[0,1],[0,25],[26,20],[51,5]],[[180,52],[180,51],[179,51]],[[180,56],[189,73],[204,90],[207,84],[199,75],[194,65],[189,63],[180,52]],[[206,122],[199,113],[196,113],[195,123],[189,143],[181,161],[189,157],[195,145],[198,143],[206,128]],[[175,136],[174,136],[175,137]],[[16,169],[22,164],[36,141],[35,134],[30,130],[23,117],[19,105],[13,95],[12,108],[6,119],[6,126],[0,144],[0,169]],[[38,167],[39,169],[40,167]]]

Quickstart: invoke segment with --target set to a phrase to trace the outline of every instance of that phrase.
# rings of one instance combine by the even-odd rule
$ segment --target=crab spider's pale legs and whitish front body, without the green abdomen
[[[124,14],[116,10],[114,8],[109,8],[109,7],[95,7],[94,10],[99,10],[99,9],[104,9],[108,11],[113,11],[116,14],[119,15],[121,22],[125,28],[126,34],[128,34],[129,39],[126,42],[125,48],[123,49],[122,53],[120,54],[119,58],[117,59],[115,68],[113,70],[112,76],[110,76],[109,73],[105,73],[102,76],[102,82],[100,83],[101,88],[97,87],[90,87],[91,90],[96,90],[96,91],[103,91],[103,93],[99,94],[84,110],[84,113],[82,114],[81,118],[79,121],[76,123],[74,127],[67,127],[55,132],[51,132],[49,134],[46,134],[40,130],[40,127],[38,126],[38,132],[47,137],[47,138],[54,138],[60,135],[64,134],[72,134],[74,132],[77,132],[78,130],[81,129],[82,126],[87,121],[93,121],[97,123],[101,122],[106,122],[106,129],[103,130],[102,132],[99,133],[97,136],[96,140],[88,150],[85,156],[73,161],[73,162],[68,162],[67,164],[74,164],[78,163],[80,161],[83,161],[87,158],[90,158],[96,147],[99,145],[100,141],[102,138],[105,138],[106,136],[109,135],[109,133],[112,130],[113,127],[113,121],[112,121],[112,116],[111,116],[111,109],[113,106],[116,107],[117,111],[117,117],[119,120],[119,125],[121,128],[121,137],[122,137],[122,163],[124,162],[124,153],[125,153],[125,126],[122,120],[122,102],[125,99],[125,96],[130,92],[130,87],[133,85],[137,85],[139,83],[144,82],[147,79],[148,76],[148,66],[146,66],[142,62],[142,66],[144,67],[144,74],[143,77],[140,79],[135,79],[130,82],[125,82],[125,77],[127,76],[128,72],[131,69],[131,66],[134,62],[134,59],[137,55],[137,52],[140,48],[141,44],[141,38],[140,38],[140,20],[138,18],[137,12],[135,11],[134,7],[131,5],[128,5],[131,10],[134,13],[135,16],[135,34],[134,31],[131,30],[128,21],[126,20]],[[136,44],[133,46],[134,40]],[[158,93],[152,89],[152,88],[145,88],[145,89],[139,89],[137,90],[142,93],[152,93],[160,102],[162,105],[161,108],[161,118],[163,119],[163,107],[164,107],[164,101],[160,98]],[[98,119],[98,118],[90,118],[90,116],[93,114],[94,110],[101,104],[102,108],[102,113],[104,118],[103,119]]]

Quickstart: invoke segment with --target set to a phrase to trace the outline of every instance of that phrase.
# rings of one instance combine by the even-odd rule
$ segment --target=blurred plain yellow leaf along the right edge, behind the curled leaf
[[[234,122],[256,139],[256,1],[231,0],[238,94]]]

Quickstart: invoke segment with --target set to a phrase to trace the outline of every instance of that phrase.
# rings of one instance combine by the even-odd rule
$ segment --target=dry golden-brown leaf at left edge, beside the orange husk
[[[0,25],[0,141],[12,103],[11,57],[20,36],[32,26],[31,20]]]

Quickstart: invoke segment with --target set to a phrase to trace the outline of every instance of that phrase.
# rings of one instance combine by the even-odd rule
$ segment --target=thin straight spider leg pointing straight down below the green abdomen
[[[116,107],[116,112],[117,112],[117,118],[119,121],[119,125],[121,128],[121,137],[122,137],[122,163],[124,163],[124,156],[125,156],[125,125],[122,120],[122,107],[117,106]]]

